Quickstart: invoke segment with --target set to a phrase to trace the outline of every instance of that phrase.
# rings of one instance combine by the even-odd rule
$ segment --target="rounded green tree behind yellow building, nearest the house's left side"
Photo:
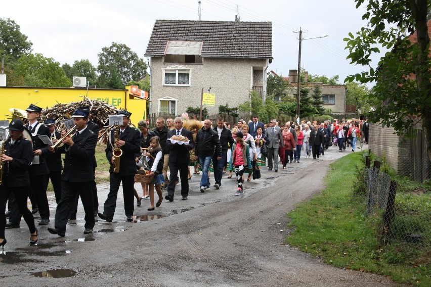
[[[102,48],[98,57],[100,87],[116,88],[118,81],[124,86],[128,81],[139,80],[147,75],[147,64],[125,44],[112,42],[111,46]]]

